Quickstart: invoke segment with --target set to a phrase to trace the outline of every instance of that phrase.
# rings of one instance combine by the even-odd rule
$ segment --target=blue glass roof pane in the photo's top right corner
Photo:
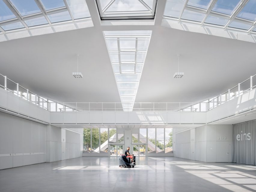
[[[239,12],[237,17],[255,21],[256,20],[256,0],[248,1],[244,6],[244,8]]]

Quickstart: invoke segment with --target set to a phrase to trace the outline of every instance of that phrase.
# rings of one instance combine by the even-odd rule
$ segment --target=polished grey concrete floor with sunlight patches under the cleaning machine
[[[140,157],[136,164],[119,168],[116,157],[79,157],[4,169],[0,191],[256,191],[256,166],[176,157]]]

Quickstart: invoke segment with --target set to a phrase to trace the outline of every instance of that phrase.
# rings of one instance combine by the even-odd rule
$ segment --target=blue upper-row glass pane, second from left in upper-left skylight
[[[14,7],[19,11],[21,16],[40,13],[41,10],[37,6],[34,0],[10,0]]]

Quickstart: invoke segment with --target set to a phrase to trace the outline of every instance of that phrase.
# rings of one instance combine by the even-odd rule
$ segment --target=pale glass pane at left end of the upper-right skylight
[[[179,18],[185,0],[167,0],[164,10],[164,16]]]

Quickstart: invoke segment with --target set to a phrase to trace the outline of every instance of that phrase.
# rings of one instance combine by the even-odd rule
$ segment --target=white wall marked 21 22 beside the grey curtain
[[[174,133],[174,156],[203,162],[231,162],[232,129],[232,125],[204,125]]]

